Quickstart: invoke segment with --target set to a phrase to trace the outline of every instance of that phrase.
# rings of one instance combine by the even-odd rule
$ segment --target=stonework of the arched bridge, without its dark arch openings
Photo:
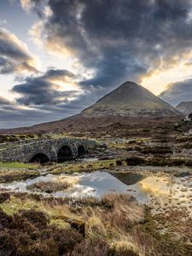
[[[71,148],[73,158],[78,157],[78,148],[84,147],[85,151],[89,151],[96,147],[94,140],[86,140],[72,137],[64,137],[61,139],[48,139],[48,140],[32,140],[26,143],[9,143],[9,148],[0,149],[1,161],[19,161],[29,162],[36,154],[46,154],[50,161],[57,160],[57,154],[63,146]]]

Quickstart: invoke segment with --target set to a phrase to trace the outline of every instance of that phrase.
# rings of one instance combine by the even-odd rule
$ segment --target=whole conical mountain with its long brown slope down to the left
[[[98,102],[67,119],[1,133],[93,131],[113,124],[146,123],[149,119],[180,119],[183,114],[134,82],[125,82]],[[153,120],[152,120],[153,122]]]

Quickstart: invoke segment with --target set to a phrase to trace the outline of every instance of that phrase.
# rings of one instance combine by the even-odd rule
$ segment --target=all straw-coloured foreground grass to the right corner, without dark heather
[[[178,218],[175,215],[170,218],[154,218],[146,207],[137,204],[128,195],[107,195],[102,200],[87,198],[75,201],[69,198],[14,194],[10,198],[6,197],[0,208],[9,216],[18,215],[20,210],[43,212],[47,216],[48,225],[65,229],[67,237],[70,233],[67,233],[67,230],[75,229],[83,234],[77,225],[69,224],[68,219],[75,219],[76,224],[85,223],[85,238],[80,243],[77,242],[67,256],[190,256],[192,253],[192,247],[186,242],[191,235],[191,225],[187,220],[186,224],[184,223],[186,228],[182,228],[183,222],[180,222],[178,228],[182,228],[179,234],[184,240],[176,236],[172,238],[169,234],[161,235],[159,230],[162,229],[162,225],[166,228],[168,222],[172,229],[172,223],[177,226],[181,215],[177,214]],[[32,217],[32,214],[30,216]],[[189,236],[184,236],[185,233],[189,233]],[[65,237],[61,241],[61,246],[62,243],[65,243]],[[49,249],[51,245],[48,244],[47,247]]]

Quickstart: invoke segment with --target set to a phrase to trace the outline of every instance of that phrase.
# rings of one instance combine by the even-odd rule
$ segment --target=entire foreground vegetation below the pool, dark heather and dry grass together
[[[128,195],[74,201],[3,193],[0,199],[3,256],[192,255],[192,223],[180,222],[182,212],[153,217]],[[59,224],[66,216],[84,221],[85,236],[73,225]],[[170,225],[172,234],[162,235],[159,225],[161,229]]]

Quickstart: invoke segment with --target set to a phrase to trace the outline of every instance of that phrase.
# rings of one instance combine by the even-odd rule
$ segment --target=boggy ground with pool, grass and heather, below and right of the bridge
[[[86,160],[0,163],[0,254],[192,255],[189,128],[112,129]]]

